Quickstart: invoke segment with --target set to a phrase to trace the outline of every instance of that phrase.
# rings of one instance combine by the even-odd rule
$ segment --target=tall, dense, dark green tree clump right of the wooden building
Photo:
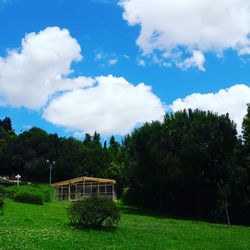
[[[187,110],[136,129],[126,140],[130,200],[179,216],[212,219],[217,183],[229,182],[237,142],[228,115]]]

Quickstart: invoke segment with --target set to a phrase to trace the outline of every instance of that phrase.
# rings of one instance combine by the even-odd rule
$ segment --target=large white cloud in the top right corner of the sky
[[[201,70],[206,52],[233,49],[239,55],[250,54],[249,0],[120,0],[119,4],[123,18],[140,25],[137,44],[144,54],[160,51],[177,66]]]

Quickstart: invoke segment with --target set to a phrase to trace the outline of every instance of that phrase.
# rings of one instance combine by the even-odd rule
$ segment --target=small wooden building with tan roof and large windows
[[[116,199],[115,180],[94,177],[78,177],[53,183],[56,200],[78,200],[92,195]]]

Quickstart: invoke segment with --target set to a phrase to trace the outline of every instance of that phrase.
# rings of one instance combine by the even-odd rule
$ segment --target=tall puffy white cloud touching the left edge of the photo
[[[57,91],[92,85],[91,78],[68,77],[71,63],[81,59],[81,48],[66,29],[27,34],[19,50],[0,57],[1,102],[39,109]]]

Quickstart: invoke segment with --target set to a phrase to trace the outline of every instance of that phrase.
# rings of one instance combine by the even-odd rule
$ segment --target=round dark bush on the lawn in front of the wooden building
[[[77,228],[100,228],[117,225],[120,213],[112,200],[92,196],[73,201],[68,208],[68,217],[70,224]]]

